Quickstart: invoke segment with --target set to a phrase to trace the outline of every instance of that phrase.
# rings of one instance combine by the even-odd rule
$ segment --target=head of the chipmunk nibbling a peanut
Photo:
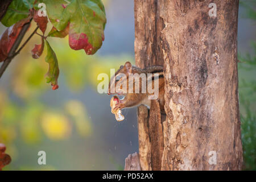
[[[132,73],[133,66],[129,61],[121,65],[115,75],[110,79],[108,94],[124,95],[128,90],[128,76]],[[125,86],[126,85],[126,86]]]

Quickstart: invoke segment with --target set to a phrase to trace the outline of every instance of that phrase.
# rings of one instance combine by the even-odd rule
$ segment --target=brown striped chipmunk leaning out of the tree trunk
[[[130,74],[133,73],[133,74]],[[135,74],[138,73],[138,74]],[[141,74],[144,73],[144,74]],[[152,76],[150,76],[151,73]],[[158,73],[159,76],[155,76],[154,73]],[[135,79],[129,80],[130,77],[137,75],[139,77],[139,82],[136,82]],[[143,80],[143,75],[146,75],[146,84],[145,79]],[[155,81],[158,79],[158,90],[155,90]],[[138,79],[137,79],[138,81]],[[133,84],[132,88],[129,89],[129,83]],[[157,81],[156,81],[157,83]],[[153,99],[158,99],[160,104],[160,110],[164,113],[164,75],[163,75],[163,66],[152,65],[150,67],[141,69],[131,65],[129,61],[125,65],[121,65],[115,75],[110,79],[108,94],[118,94],[125,96],[122,100],[119,100],[119,103],[115,105],[115,109],[123,109],[129,107],[135,107],[139,105],[146,105],[150,109],[151,99],[154,97],[150,89],[148,89],[148,84],[152,84],[151,89],[154,89],[158,93],[158,97]],[[117,88],[119,86],[119,88]],[[139,86],[139,93],[136,91],[136,86]],[[113,90],[114,88],[114,90]],[[142,92],[144,89],[144,92]],[[129,92],[133,91],[133,92]],[[138,89],[137,89],[138,91]]]

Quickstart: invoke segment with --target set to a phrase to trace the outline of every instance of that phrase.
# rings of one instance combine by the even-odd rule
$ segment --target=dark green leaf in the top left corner
[[[1,20],[3,25],[10,27],[19,20],[27,18],[34,2],[35,0],[13,0]]]

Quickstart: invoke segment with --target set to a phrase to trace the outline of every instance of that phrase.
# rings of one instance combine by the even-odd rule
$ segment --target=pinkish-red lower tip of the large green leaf
[[[87,55],[93,54],[93,47],[84,33],[80,35],[69,34],[69,46],[75,50],[84,49]]]

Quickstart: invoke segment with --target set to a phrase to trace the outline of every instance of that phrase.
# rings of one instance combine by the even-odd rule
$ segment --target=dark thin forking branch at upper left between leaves
[[[32,19],[31,19],[32,20]],[[19,32],[19,35],[17,37],[17,39],[15,40],[15,43],[13,44],[13,47],[11,47],[10,52],[8,53],[8,57],[6,58],[6,60],[3,62],[3,64],[1,65],[0,68],[0,78],[2,77],[3,73],[5,72],[5,69],[8,67],[8,65],[11,63],[11,60],[13,60],[13,58],[18,55],[18,53],[20,52],[20,50],[27,44],[28,40],[31,39],[31,37],[35,34],[35,32],[38,30],[39,27],[36,27],[36,29],[32,32],[32,34],[28,37],[28,39],[26,40],[26,42],[23,43],[23,45],[18,49],[17,52],[16,49],[19,47],[20,42],[22,41],[24,35],[26,34],[28,27],[30,27],[30,22],[24,24],[24,26],[22,27],[22,30]]]

